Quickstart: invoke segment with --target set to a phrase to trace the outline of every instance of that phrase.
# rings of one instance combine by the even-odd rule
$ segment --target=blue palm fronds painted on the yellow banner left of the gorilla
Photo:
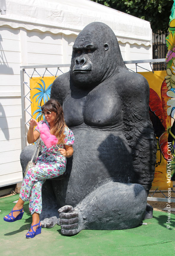
[[[46,85],[44,83],[44,80],[42,79],[39,79],[41,81],[41,83],[37,83],[39,85],[39,87],[35,87],[34,89],[37,89],[39,92],[37,92],[34,96],[34,97],[37,97],[36,98],[36,102],[38,101],[38,108],[37,110],[34,111],[33,115],[38,113],[37,116],[36,116],[36,119],[38,118],[38,121],[41,120],[42,118],[42,110],[41,110],[41,105],[43,105],[45,102],[48,101],[48,99],[50,99],[50,91],[51,91],[51,86],[52,86],[52,83],[47,87],[46,89]],[[33,99],[32,98],[32,99]],[[42,104],[42,100],[43,100],[43,104]],[[43,119],[44,119],[44,116],[43,116]]]

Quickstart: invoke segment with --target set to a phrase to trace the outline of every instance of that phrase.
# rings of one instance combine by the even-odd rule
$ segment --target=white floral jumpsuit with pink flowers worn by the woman
[[[41,124],[46,123],[49,127],[47,121],[40,121]],[[35,129],[39,132],[38,127]],[[72,145],[74,143],[73,132],[65,126],[65,145]],[[56,146],[47,148],[42,139],[41,143],[41,156],[36,159],[36,165],[32,167],[26,173],[24,177],[23,184],[20,190],[20,198],[23,201],[29,200],[29,211],[31,214],[42,212],[42,185],[47,179],[55,178],[62,175],[66,170],[66,157],[63,157],[58,151]],[[59,148],[65,148],[64,145],[58,145]]]

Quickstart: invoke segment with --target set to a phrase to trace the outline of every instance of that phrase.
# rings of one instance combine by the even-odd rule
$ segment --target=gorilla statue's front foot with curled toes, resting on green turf
[[[78,212],[70,205],[65,205],[58,210],[60,214],[61,233],[64,235],[74,235],[79,233]]]

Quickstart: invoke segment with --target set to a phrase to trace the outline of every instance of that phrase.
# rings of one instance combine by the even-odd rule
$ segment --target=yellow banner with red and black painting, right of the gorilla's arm
[[[167,157],[168,157],[168,134],[167,128],[171,126],[171,116],[167,115],[167,84],[165,82],[165,71],[140,72],[150,88],[149,115],[156,133],[157,154],[155,176],[152,189],[168,189],[173,187],[173,182],[167,179]],[[168,183],[167,183],[168,182]]]

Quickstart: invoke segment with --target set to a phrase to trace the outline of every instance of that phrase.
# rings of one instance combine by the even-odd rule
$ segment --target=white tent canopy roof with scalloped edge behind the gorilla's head
[[[78,35],[87,24],[98,21],[111,27],[121,43],[151,45],[149,22],[90,0],[6,0],[6,5],[0,26]]]

